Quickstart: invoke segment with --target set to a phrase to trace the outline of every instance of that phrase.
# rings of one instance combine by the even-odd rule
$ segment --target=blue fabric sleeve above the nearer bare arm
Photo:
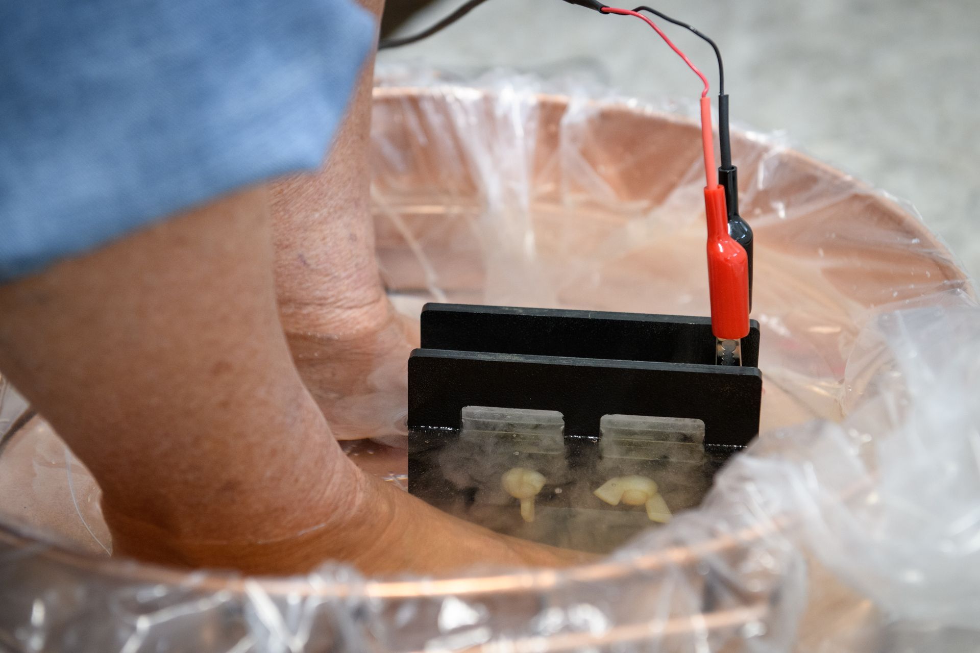
[[[0,2],[0,282],[321,163],[353,0]]]

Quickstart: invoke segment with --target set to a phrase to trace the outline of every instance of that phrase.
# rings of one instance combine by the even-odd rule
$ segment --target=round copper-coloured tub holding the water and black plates
[[[377,253],[407,314],[429,301],[709,314],[690,117],[512,81],[380,87],[374,99]],[[887,194],[759,134],[733,134],[733,152],[741,212],[756,232],[762,431],[807,438],[801,425],[840,422],[860,395],[855,384],[878,370],[847,371],[862,325],[972,290],[947,248]],[[883,642],[878,608],[788,543],[799,516],[762,519],[717,492],[608,559],[564,571],[367,580],[326,565],[259,579],[114,559],[97,487],[3,388],[2,649],[542,653]],[[382,463],[365,454],[366,466],[392,471],[399,454],[386,453]],[[751,493],[751,478],[732,481],[744,473],[732,470],[728,487]]]

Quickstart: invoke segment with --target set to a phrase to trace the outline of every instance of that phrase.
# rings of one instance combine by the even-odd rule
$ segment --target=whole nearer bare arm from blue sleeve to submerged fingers
[[[273,262],[288,247],[269,206],[267,188],[244,189],[0,286],[0,370],[98,481],[114,552],[254,574],[325,560],[368,574],[580,561],[449,517],[350,462],[280,323]],[[319,216],[343,220],[345,207]],[[363,233],[359,219],[352,210],[322,237]],[[331,259],[339,276],[321,283],[355,297],[368,250]],[[290,301],[331,306],[293,288],[285,321]],[[370,305],[306,316],[329,333]]]

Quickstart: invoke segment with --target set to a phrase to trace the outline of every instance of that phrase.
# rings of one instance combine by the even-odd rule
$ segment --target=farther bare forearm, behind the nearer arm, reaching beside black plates
[[[382,0],[364,0],[380,16]],[[370,217],[369,61],[330,157],[272,187],[275,282],[300,374],[337,438],[400,433],[417,334],[388,303]]]

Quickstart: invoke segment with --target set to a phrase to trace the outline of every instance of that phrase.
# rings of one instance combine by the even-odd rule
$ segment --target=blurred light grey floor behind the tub
[[[389,0],[405,35],[463,0]],[[669,0],[654,5],[721,48],[732,119],[786,130],[809,154],[911,201],[980,277],[980,2]],[[632,8],[632,5],[629,5]],[[716,84],[711,49],[662,24]],[[648,26],[559,0],[489,0],[427,41],[381,54],[451,70],[555,70],[569,60],[643,99],[693,98],[699,82]],[[714,86],[716,89],[716,86]],[[712,89],[713,92],[713,89]]]

